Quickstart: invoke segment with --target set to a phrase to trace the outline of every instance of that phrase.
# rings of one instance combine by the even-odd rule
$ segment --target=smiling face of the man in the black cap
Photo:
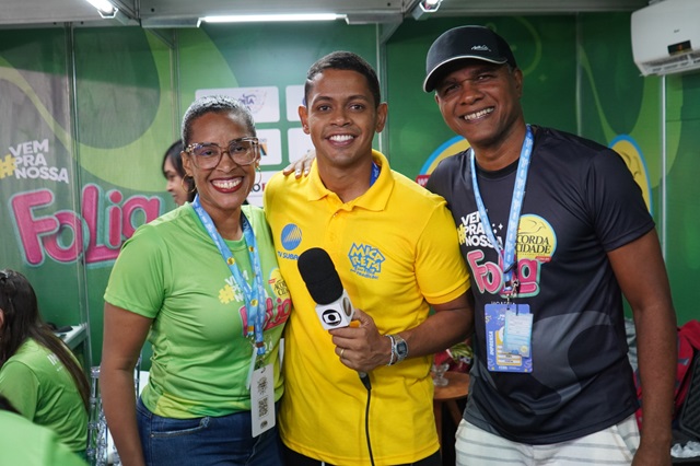
[[[520,69],[467,60],[438,83],[435,102],[447,126],[466,138],[478,156],[524,129],[522,91]]]

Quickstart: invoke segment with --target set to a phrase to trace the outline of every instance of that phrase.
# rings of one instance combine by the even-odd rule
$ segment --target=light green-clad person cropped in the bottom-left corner
[[[55,431],[30,421],[0,395],[0,464],[22,466],[85,466]]]

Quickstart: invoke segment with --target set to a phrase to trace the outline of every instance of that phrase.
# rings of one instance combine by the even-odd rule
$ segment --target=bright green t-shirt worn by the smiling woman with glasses
[[[265,213],[243,206],[258,244],[267,294],[265,362],[275,364],[275,399],[282,396],[278,351],[291,298],[280,275]],[[228,241],[250,280],[244,240]],[[139,228],[115,263],[108,303],[153,318],[149,383],[141,397],[154,413],[187,419],[250,409],[246,386],[253,345],[241,287],[190,205]]]

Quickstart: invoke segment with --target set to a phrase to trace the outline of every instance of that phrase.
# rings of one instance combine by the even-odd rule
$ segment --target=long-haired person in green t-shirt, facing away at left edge
[[[32,283],[10,269],[0,270],[0,394],[84,457],[90,383],[42,319]]]

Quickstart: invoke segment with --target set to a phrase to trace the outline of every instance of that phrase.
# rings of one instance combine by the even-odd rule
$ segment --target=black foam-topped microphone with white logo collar
[[[308,294],[316,302],[316,315],[324,329],[342,328],[350,325],[354,307],[342,288],[330,256],[320,247],[306,249],[296,261],[299,272],[306,283]],[[365,372],[358,372],[366,389],[372,389]]]

